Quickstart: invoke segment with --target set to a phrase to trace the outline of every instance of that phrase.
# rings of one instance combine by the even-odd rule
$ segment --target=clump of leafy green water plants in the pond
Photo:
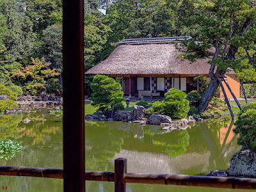
[[[21,152],[23,147],[19,142],[5,139],[0,142],[0,159],[2,161],[12,159],[17,153]]]

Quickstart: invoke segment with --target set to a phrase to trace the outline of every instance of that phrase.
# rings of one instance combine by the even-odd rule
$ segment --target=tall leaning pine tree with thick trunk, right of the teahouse
[[[199,111],[202,112],[207,108],[225,73],[241,66],[236,54],[239,47],[252,43],[252,25],[256,19],[256,8],[255,1],[252,0],[210,0],[205,1],[198,8],[203,12],[191,17],[189,21],[191,25],[198,24],[200,31],[197,42],[195,40],[185,42],[188,43],[185,57],[195,60],[205,56],[207,49],[212,46],[215,48],[210,62],[211,82],[198,106]]]

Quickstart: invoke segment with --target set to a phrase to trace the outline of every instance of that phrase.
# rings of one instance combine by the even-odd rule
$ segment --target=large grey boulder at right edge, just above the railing
[[[232,175],[243,175],[256,177],[256,152],[242,147],[231,157],[228,173]]]

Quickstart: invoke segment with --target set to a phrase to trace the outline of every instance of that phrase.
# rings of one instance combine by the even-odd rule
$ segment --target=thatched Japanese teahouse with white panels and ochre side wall
[[[170,88],[189,93],[197,88],[192,84],[196,76],[209,76],[210,59],[200,59],[193,63],[179,57],[181,51],[174,42],[190,36],[139,38],[122,40],[109,57],[90,68],[86,74],[105,74],[122,77],[125,95],[162,96]],[[227,81],[236,97],[240,97],[240,82],[234,71],[227,74]],[[227,90],[228,89],[225,88]],[[229,98],[232,95],[228,95]]]

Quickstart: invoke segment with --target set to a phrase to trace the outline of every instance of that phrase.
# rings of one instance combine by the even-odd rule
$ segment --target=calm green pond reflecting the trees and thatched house
[[[0,141],[10,138],[27,146],[1,166],[63,168],[62,118],[47,109],[0,116]],[[24,124],[22,120],[31,122]],[[241,146],[230,120],[196,123],[190,129],[166,132],[157,125],[86,122],[86,170],[114,172],[114,160],[127,159],[127,172],[206,175],[227,170]],[[0,191],[63,191],[63,180],[0,176]],[[188,186],[127,184],[128,191],[243,191]],[[86,191],[114,191],[112,182],[86,181]],[[245,191],[245,190],[244,190]],[[246,190],[248,191],[248,190]]]

